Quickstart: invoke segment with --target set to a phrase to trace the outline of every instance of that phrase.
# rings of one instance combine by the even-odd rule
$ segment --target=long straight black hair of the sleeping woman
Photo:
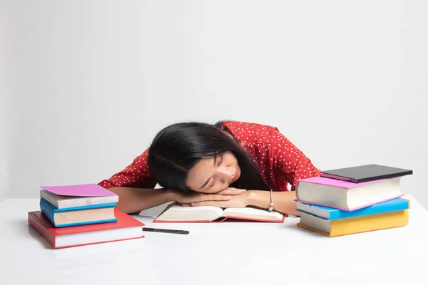
[[[240,178],[230,187],[269,190],[260,177],[260,169],[234,138],[220,130],[221,122],[176,123],[163,128],[148,150],[148,167],[161,187],[189,191],[185,185],[188,171],[201,158],[230,151],[238,160]]]

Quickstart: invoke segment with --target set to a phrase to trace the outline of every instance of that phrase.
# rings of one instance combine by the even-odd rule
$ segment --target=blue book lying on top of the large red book
[[[46,199],[40,198],[41,212],[54,224],[54,227],[117,222],[114,215],[115,207],[116,203],[108,203],[58,209]]]

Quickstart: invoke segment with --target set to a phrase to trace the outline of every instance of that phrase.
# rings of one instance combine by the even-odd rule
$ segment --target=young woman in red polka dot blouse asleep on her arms
[[[148,150],[99,185],[115,192],[117,207],[128,213],[177,201],[189,207],[254,206],[298,215],[297,180],[319,175],[275,127],[178,123],[161,130]],[[153,189],[157,183],[163,189]]]

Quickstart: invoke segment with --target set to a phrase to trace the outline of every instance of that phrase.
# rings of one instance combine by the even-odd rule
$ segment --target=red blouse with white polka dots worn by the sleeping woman
[[[222,129],[232,134],[250,157],[258,163],[261,176],[273,191],[294,191],[302,178],[320,176],[317,169],[302,151],[272,126],[236,121],[223,122]],[[147,164],[148,150],[136,157],[131,165],[109,179],[98,183],[105,188],[154,188]]]

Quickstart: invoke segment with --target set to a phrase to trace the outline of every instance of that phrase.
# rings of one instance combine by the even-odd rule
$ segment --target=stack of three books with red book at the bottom
[[[118,195],[96,184],[46,186],[29,224],[54,249],[143,237],[142,222],[117,207]]]

